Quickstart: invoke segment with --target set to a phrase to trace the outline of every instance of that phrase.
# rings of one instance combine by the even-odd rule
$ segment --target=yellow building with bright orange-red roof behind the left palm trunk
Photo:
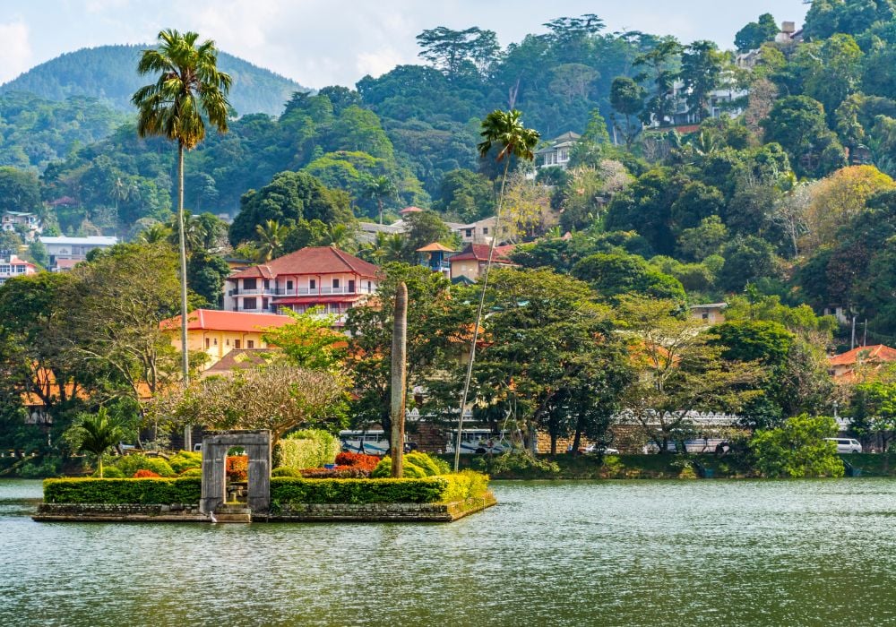
[[[232,350],[268,348],[264,330],[289,324],[291,318],[276,314],[248,314],[216,309],[196,309],[186,317],[186,345],[194,352],[203,352],[208,359],[203,365],[217,364]],[[180,316],[159,322],[159,328],[171,338],[171,345],[180,350]]]

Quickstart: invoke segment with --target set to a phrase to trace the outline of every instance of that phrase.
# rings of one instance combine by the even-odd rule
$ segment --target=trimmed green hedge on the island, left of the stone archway
[[[46,479],[44,502],[86,502],[142,505],[198,503],[200,477],[177,479]]]

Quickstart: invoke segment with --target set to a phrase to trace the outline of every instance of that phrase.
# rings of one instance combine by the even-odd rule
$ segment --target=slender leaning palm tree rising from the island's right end
[[[504,161],[504,175],[501,177],[501,193],[498,196],[498,208],[495,211],[495,228],[492,230],[492,242],[488,246],[488,260],[482,273],[482,291],[479,294],[479,306],[476,312],[476,323],[473,325],[473,339],[470,344],[470,363],[467,365],[467,378],[463,384],[461,395],[461,414],[458,418],[457,442],[454,442],[454,471],[457,472],[461,462],[461,432],[463,430],[463,409],[467,405],[467,395],[470,393],[470,379],[473,376],[473,361],[476,359],[476,342],[479,336],[479,325],[482,322],[482,308],[486,302],[486,288],[488,287],[488,271],[492,267],[492,258],[495,256],[495,244],[498,234],[501,232],[501,210],[504,208],[504,186],[507,184],[507,173],[510,171],[510,163],[513,157],[531,161],[535,159],[535,147],[538,145],[538,131],[526,128],[520,119],[521,113],[516,109],[501,111],[495,109],[482,121],[482,131],[479,133],[483,140],[477,148],[479,157],[485,159],[492,147],[498,149],[495,160]]]

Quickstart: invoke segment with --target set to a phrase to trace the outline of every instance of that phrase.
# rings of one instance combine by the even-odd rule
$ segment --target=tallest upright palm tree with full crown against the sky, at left
[[[218,70],[218,49],[211,39],[198,46],[199,35],[166,29],[159,47],[144,50],[137,72],[155,74],[156,82],[141,87],[131,102],[138,109],[137,133],[162,135],[177,142],[177,232],[180,240],[181,318],[186,320],[186,246],[184,241],[184,151],[205,137],[205,121],[219,133],[228,130],[227,94],[230,76]],[[184,384],[189,382],[186,324],[181,325]]]

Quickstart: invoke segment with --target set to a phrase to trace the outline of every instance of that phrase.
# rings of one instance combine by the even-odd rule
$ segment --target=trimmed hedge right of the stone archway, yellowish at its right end
[[[271,502],[298,503],[452,502],[485,494],[488,477],[466,471],[417,479],[271,478]]]

